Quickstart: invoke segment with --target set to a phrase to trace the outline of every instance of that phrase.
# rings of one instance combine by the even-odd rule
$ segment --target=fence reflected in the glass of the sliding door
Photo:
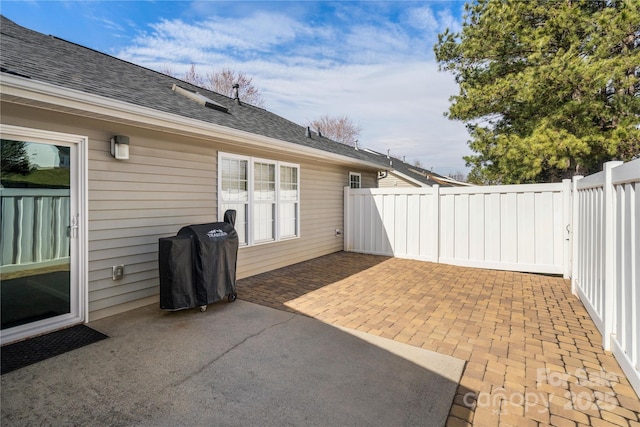
[[[3,272],[69,258],[69,190],[0,188]]]

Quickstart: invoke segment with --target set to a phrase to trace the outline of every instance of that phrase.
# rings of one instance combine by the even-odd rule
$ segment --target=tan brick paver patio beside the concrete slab
[[[640,427],[640,399],[559,277],[340,252],[238,295],[466,360],[448,426]]]

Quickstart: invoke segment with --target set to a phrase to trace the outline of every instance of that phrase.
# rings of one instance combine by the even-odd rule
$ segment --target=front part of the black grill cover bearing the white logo
[[[220,301],[235,292],[238,233],[233,225],[228,222],[189,225],[181,228],[176,237],[189,238],[192,243],[196,305]]]

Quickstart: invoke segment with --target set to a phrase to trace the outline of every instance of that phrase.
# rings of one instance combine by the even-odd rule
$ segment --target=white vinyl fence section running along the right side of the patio
[[[640,159],[573,181],[572,291],[640,394]]]

